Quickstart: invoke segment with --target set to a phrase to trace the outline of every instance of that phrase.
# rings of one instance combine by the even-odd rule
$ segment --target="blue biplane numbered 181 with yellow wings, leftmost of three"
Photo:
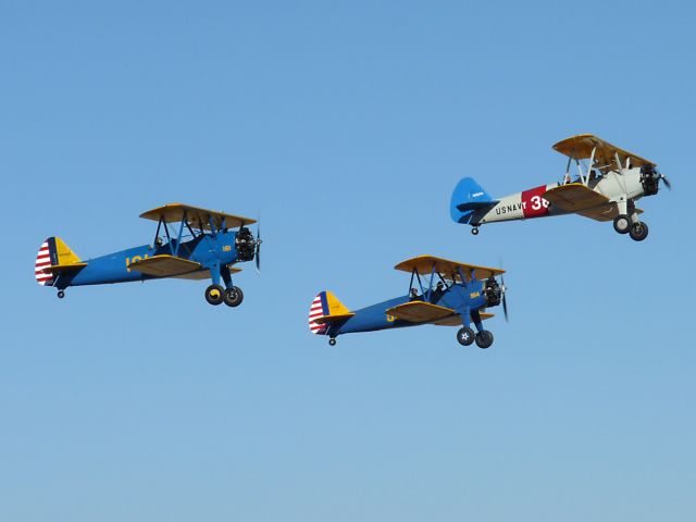
[[[127,248],[89,260],[80,260],[60,237],[44,241],[34,273],[39,285],[58,289],[65,297],[70,286],[126,283],[164,277],[211,279],[206,300],[237,307],[244,299],[232,274],[236,263],[256,259],[260,268],[261,238],[247,225],[256,220],[171,203],[149,210],[140,217],[157,221],[151,245]],[[237,228],[234,231],[234,228]],[[224,287],[221,285],[224,283]]]

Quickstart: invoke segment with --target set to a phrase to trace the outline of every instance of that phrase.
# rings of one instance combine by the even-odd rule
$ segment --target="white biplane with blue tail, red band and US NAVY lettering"
[[[554,149],[568,157],[561,182],[494,199],[473,178],[464,177],[452,192],[452,220],[471,225],[476,235],[485,223],[574,213],[613,221],[619,234],[629,234],[636,241],[648,236],[648,225],[639,217],[643,210],[635,203],[644,196],[655,196],[660,181],[671,188],[656,163],[591,134],[559,141]],[[577,167],[574,177],[572,163]]]

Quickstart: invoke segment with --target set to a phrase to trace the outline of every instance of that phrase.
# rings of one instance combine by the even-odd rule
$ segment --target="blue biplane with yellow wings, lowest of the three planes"
[[[395,269],[411,274],[406,296],[350,311],[331,291],[321,291],[309,309],[309,330],[328,336],[334,346],[343,334],[434,324],[460,326],[457,340],[463,346],[475,341],[480,348],[488,348],[493,344],[493,334],[482,322],[494,316],[486,309],[501,302],[508,318],[504,270],[433,256],[408,259]]]

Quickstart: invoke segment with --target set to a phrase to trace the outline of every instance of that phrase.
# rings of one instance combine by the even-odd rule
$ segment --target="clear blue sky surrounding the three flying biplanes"
[[[688,2],[0,2],[0,519],[694,520]],[[558,181],[594,133],[656,161],[643,244],[577,216],[449,220]],[[204,282],[69,288],[172,201],[257,215],[238,309]],[[508,270],[456,328],[307,326],[432,253]]]

